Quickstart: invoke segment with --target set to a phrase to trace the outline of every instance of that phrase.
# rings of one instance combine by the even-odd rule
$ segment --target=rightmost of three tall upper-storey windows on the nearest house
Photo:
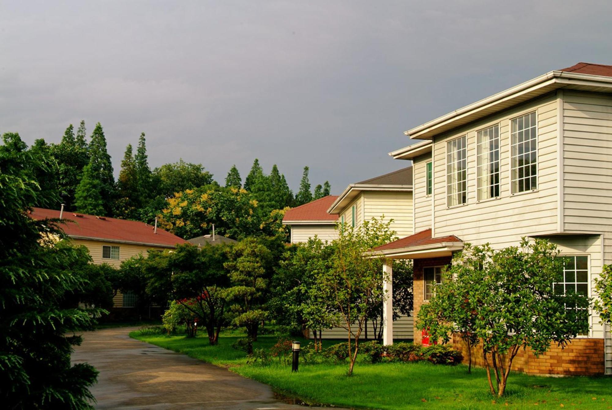
[[[531,191],[537,188],[535,112],[515,118],[510,122],[512,193]]]

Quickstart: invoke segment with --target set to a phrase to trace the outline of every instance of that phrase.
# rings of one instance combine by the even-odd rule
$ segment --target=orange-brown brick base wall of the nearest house
[[[453,334],[453,348],[461,351],[463,362],[467,363],[468,348],[458,334]],[[491,357],[488,357],[491,363]],[[482,347],[472,348],[472,363],[483,367]],[[545,354],[536,357],[530,349],[521,349],[512,361],[512,370],[532,375],[603,375],[603,339],[578,338],[564,349],[551,345]]]

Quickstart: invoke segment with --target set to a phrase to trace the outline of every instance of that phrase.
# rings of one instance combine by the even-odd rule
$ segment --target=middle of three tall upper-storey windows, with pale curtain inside
[[[499,125],[476,133],[478,200],[499,196]]]

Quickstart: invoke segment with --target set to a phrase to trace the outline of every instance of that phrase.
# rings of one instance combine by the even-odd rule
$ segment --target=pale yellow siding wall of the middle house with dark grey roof
[[[393,222],[390,228],[398,237],[412,234],[412,192],[362,192],[365,220],[381,218]]]

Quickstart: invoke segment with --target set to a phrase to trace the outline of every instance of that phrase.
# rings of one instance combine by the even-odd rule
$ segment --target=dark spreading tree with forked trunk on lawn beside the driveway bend
[[[219,332],[226,324],[225,288],[229,278],[223,263],[228,247],[179,245],[173,252],[151,258],[145,264],[147,292],[167,293],[168,299],[183,305],[206,328],[211,345],[218,343]]]

